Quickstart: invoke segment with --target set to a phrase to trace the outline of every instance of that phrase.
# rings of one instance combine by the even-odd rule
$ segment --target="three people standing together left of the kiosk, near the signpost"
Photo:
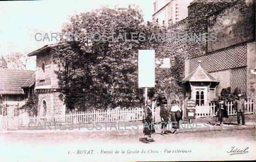
[[[179,130],[179,121],[182,119],[182,110],[181,107],[177,104],[176,100],[172,100],[171,106],[168,106],[167,99],[163,97],[159,101],[160,105],[160,117],[161,117],[161,134],[167,133],[167,125],[168,122],[172,122],[172,130],[171,133],[178,133]],[[155,133],[154,119],[152,116],[152,101],[147,100],[146,106],[144,107],[144,115],[143,115],[143,134],[145,136],[145,141],[153,142],[154,139],[151,137],[153,133]]]

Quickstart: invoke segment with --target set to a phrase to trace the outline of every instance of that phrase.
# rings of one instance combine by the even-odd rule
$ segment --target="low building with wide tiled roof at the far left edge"
[[[34,93],[34,71],[0,68],[0,115],[14,114]]]

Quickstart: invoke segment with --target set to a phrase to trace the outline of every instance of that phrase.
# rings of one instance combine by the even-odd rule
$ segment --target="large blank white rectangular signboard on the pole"
[[[155,87],[155,50],[139,50],[139,87]]]

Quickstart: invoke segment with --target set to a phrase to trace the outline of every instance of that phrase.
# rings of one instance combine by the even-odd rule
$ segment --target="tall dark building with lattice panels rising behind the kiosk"
[[[189,33],[215,33],[216,41],[190,41],[185,76],[198,67],[220,80],[222,88],[241,88],[248,97],[255,95],[256,15],[255,0],[194,0],[188,6]]]

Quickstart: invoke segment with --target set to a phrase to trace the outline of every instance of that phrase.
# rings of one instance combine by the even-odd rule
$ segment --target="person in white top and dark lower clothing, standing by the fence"
[[[171,121],[172,121],[172,127],[174,127],[174,131],[172,133],[178,133],[179,130],[179,122],[182,117],[182,110],[177,105],[176,100],[172,101],[172,107],[171,107]]]

